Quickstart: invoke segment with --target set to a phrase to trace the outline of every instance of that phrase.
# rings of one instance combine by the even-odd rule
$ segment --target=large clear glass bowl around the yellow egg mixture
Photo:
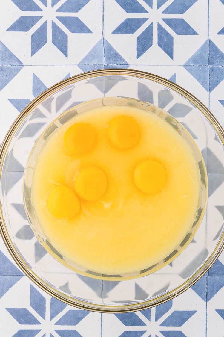
[[[38,223],[30,203],[35,160],[26,165],[37,139],[43,145],[61,123],[89,109],[89,104],[93,107],[113,102],[139,105],[157,114],[163,114],[161,109],[164,109],[171,115],[168,122],[186,139],[189,132],[204,158],[203,161],[197,155],[202,189],[191,231],[163,261],[134,275],[96,275],[68,266],[36,230]],[[224,131],[211,112],[193,95],[168,80],[131,69],[102,69],[73,76],[35,98],[14,121],[2,143],[0,229],[3,240],[21,270],[48,294],[67,304],[100,312],[128,312],[161,304],[192,286],[223,249],[223,149]]]

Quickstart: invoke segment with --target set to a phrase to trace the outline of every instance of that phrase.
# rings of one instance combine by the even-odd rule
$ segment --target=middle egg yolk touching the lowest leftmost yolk
[[[76,193],[87,201],[99,199],[106,191],[105,173],[98,167],[88,166],[80,171],[75,179]]]

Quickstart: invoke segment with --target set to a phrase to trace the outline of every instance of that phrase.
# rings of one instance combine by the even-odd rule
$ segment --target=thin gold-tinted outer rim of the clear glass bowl
[[[19,127],[21,122],[29,115],[29,113],[45,98],[47,98],[49,95],[53,94],[59,89],[62,89],[70,84],[79,82],[80,80],[86,80],[98,76],[110,76],[110,75],[129,75],[133,77],[139,77],[142,79],[150,80],[162,85],[167,86],[168,88],[176,91],[180,95],[182,95],[184,98],[186,98],[188,101],[193,103],[196,108],[200,110],[201,113],[205,115],[205,117],[208,119],[208,121],[212,124],[214,129],[219,135],[219,139],[221,140],[223,146],[224,146],[224,129],[219,124],[217,119],[213,116],[213,114],[206,108],[206,106],[201,103],[195,96],[193,96],[191,93],[189,93],[187,90],[181,88],[179,85],[164,79],[161,76],[150,74],[144,71],[140,70],[133,70],[133,69],[99,69],[99,70],[93,70],[84,72],[75,76],[72,76],[71,78],[65,79],[43,93],[41,93],[39,96],[37,96],[35,99],[33,99],[26,108],[18,115],[18,117],[15,119],[11,127],[9,128],[8,132],[5,135],[5,138],[2,142],[2,145],[0,147],[0,175],[2,174],[2,166],[4,162],[4,158],[8,149],[8,145],[16,131],[16,129]],[[19,268],[27,275],[35,284],[37,284],[41,289],[43,289],[46,293],[49,295],[55,297],[56,299],[69,304],[73,305],[75,307],[78,307],[80,309],[85,310],[91,310],[96,312],[108,312],[108,313],[119,313],[119,312],[131,312],[136,310],[143,310],[147,309],[159,304],[162,304],[166,301],[169,301],[176,297],[177,295],[180,295],[185,290],[190,288],[195,282],[197,282],[208,270],[209,268],[215,263],[216,259],[219,257],[220,253],[224,249],[224,233],[221,236],[218,244],[216,245],[213,253],[210,255],[209,259],[201,266],[201,268],[196,271],[189,279],[187,279],[185,282],[183,282],[181,285],[179,285],[177,288],[173,289],[169,293],[158,297],[157,299],[148,300],[142,303],[135,303],[135,304],[128,304],[128,305],[117,305],[117,306],[109,306],[109,305],[99,305],[99,304],[93,304],[93,303],[87,303],[85,301],[81,301],[78,299],[74,299],[59,290],[53,288],[50,284],[43,281],[39,276],[37,276],[33,270],[25,263],[23,258],[19,255],[18,251],[16,250],[16,247],[14,246],[9,233],[7,231],[3,214],[2,214],[2,207],[0,203],[0,232],[2,239],[11,254],[12,258],[16,262],[16,264],[19,266]]]

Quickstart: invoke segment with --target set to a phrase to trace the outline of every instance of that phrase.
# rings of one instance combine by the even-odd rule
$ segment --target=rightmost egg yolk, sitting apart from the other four
[[[135,167],[134,183],[144,193],[160,192],[166,183],[166,179],[165,168],[156,160],[144,160]]]

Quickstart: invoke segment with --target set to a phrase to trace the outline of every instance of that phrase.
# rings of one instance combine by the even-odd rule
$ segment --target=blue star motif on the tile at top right
[[[137,36],[137,59],[142,56],[153,43],[158,43],[159,47],[173,60],[173,45],[176,35],[198,35],[198,33],[185,21],[183,14],[197,0],[174,0],[167,8],[164,4],[167,0],[157,0],[157,7],[154,8],[151,0],[144,0],[143,7],[137,0],[115,0],[126,13],[145,14],[141,18],[126,18],[112,34],[134,34],[145,24],[145,29]],[[155,15],[156,13],[156,15]],[[178,18],[173,18],[172,14],[178,14]],[[175,34],[171,35],[168,30]],[[153,39],[153,31],[157,31],[157,41]]]

